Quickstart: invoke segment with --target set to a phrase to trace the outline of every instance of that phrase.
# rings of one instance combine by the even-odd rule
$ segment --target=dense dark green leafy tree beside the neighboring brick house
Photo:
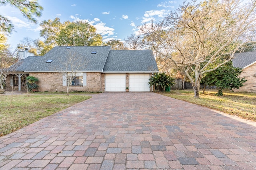
[[[232,61],[218,67],[216,70],[207,72],[202,78],[202,82],[208,86],[216,86],[218,89],[217,96],[222,96],[223,89],[238,89],[244,86],[245,78],[239,78],[242,68],[232,66]]]

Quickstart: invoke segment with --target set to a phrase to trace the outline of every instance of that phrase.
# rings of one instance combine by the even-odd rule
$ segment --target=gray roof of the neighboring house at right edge
[[[236,53],[232,62],[234,67],[246,68],[256,63],[256,51]]]

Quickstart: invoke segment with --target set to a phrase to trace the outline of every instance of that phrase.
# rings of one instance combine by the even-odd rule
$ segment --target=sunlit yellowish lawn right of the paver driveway
[[[194,98],[193,90],[171,90],[162,93],[165,96],[208,107],[230,115],[256,121],[256,93],[224,91],[223,96],[215,96],[216,90],[200,92],[200,98]]]

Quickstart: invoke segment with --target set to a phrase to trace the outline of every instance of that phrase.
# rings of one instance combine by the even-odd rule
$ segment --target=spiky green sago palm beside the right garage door
[[[163,92],[165,87],[174,86],[174,78],[165,72],[156,72],[150,77],[148,84],[150,86],[157,86],[158,89]]]

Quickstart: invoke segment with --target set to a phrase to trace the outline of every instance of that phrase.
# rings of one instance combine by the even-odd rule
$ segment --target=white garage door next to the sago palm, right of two
[[[148,85],[149,74],[130,74],[129,91],[130,92],[149,92]]]

